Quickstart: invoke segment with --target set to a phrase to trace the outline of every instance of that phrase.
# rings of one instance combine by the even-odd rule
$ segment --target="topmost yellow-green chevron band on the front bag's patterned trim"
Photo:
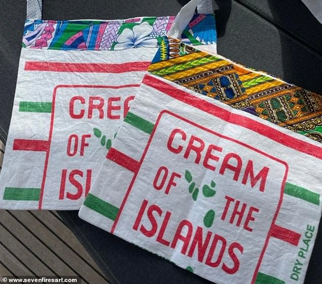
[[[222,60],[221,58],[218,58],[216,56],[207,56],[207,57],[201,57],[201,58],[197,58],[194,60],[190,60],[190,61],[186,61],[186,62],[182,62],[178,65],[172,65],[168,68],[163,68],[163,69],[159,69],[159,70],[151,70],[150,72],[158,75],[158,76],[167,76],[169,74],[173,74],[176,72],[180,72],[183,71],[185,69],[191,69],[191,68],[195,68],[198,66],[202,66],[202,65],[206,65],[206,64],[210,64],[212,62],[216,62],[216,61],[220,61]]]

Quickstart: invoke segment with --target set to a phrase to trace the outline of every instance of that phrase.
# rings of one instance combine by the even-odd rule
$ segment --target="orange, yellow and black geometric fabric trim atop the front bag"
[[[322,96],[164,39],[149,72],[322,143]]]

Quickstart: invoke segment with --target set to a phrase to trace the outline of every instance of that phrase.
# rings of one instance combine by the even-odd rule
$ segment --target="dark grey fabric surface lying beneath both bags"
[[[6,1],[0,10],[0,138],[6,140],[14,98],[25,7]],[[44,0],[44,19],[115,19],[175,15],[187,1],[129,2]],[[322,94],[322,25],[300,0],[216,0],[218,52]],[[109,7],[111,5],[111,7]],[[209,283],[174,264],[61,211],[61,217],[98,262],[111,283]],[[321,226],[320,226],[321,227]],[[320,284],[319,229],[305,284]],[[230,284],[230,283],[229,283]],[[233,283],[232,283],[233,284]]]

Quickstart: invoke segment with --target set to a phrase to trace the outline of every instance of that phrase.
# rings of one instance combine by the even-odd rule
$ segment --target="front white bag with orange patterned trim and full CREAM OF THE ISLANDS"
[[[303,283],[318,94],[165,39],[79,216],[217,284]],[[242,111],[243,110],[243,111]]]

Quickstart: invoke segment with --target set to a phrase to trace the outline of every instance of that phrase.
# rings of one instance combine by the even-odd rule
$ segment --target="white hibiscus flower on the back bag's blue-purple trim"
[[[130,28],[124,28],[122,33],[117,37],[115,49],[127,49],[137,47],[157,47],[157,40],[151,39],[150,34],[153,27],[148,22]]]

